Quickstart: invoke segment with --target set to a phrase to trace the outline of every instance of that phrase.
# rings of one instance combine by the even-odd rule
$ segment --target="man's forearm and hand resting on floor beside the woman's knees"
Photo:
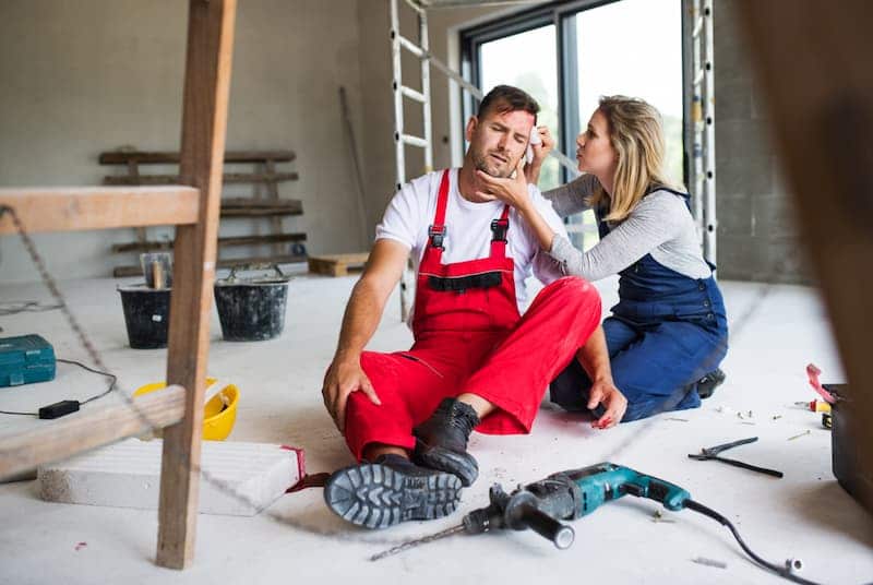
[[[624,410],[627,409],[627,399],[612,381],[612,369],[609,366],[609,349],[603,327],[598,326],[588,337],[588,341],[576,354],[583,369],[591,380],[591,390],[588,397],[588,408],[594,409],[602,404],[606,411],[591,425],[599,429],[608,429],[621,422]]]

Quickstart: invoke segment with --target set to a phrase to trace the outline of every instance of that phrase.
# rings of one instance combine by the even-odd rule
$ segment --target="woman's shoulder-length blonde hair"
[[[598,109],[607,119],[618,166],[613,192],[607,194],[599,187],[589,203],[596,207],[609,200],[609,213],[602,219],[621,222],[636,207],[650,186],[672,187],[663,170],[661,115],[645,100],[623,95],[601,96]]]

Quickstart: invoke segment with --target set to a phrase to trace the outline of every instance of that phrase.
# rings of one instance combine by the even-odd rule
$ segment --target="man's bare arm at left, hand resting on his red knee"
[[[373,404],[381,404],[361,369],[360,357],[379,326],[385,302],[400,279],[408,256],[409,250],[406,246],[390,239],[376,240],[363,274],[351,290],[336,354],[322,387],[324,406],[340,431],[346,425],[349,394],[360,390]]]

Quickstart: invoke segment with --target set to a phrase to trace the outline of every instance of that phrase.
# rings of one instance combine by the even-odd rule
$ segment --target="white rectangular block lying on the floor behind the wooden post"
[[[49,502],[156,510],[163,441],[128,439],[38,470]],[[300,479],[296,451],[282,445],[204,441],[200,512],[253,516]]]

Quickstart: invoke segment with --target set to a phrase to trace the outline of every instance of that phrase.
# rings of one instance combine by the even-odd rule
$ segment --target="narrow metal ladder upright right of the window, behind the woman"
[[[692,107],[694,134],[693,211],[703,254],[716,263],[716,133],[715,74],[713,71],[713,0],[693,0]]]

